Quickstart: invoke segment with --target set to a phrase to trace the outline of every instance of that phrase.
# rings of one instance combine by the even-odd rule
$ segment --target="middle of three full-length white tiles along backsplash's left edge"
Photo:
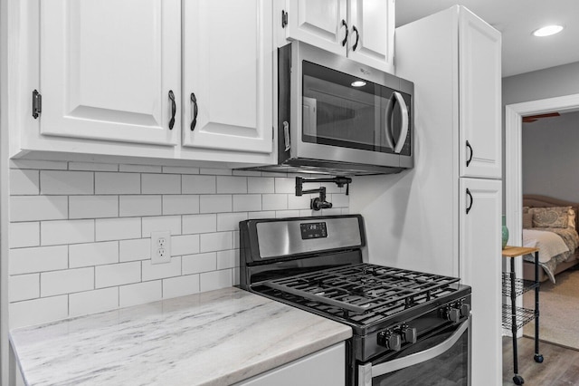
[[[10,275],[68,268],[69,246],[36,246],[10,250]]]

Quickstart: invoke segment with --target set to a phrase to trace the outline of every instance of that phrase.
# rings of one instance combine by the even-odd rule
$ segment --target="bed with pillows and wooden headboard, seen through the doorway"
[[[578,209],[576,202],[523,195],[523,246],[539,248],[540,281],[555,283],[555,275],[579,263]],[[523,277],[534,280],[535,256],[523,261]]]

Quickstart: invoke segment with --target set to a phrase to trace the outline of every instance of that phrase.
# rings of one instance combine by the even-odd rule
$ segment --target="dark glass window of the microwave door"
[[[314,63],[304,61],[302,68],[304,142],[394,152],[389,126],[397,118],[386,119],[392,90],[369,81],[354,86],[362,80]]]

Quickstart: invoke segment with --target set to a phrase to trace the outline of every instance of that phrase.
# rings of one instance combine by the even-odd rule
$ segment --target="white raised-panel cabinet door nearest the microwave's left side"
[[[183,145],[271,152],[271,1],[183,5]]]

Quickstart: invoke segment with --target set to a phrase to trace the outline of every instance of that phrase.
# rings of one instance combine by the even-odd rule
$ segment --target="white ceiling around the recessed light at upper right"
[[[578,0],[397,0],[396,26],[460,4],[502,34],[502,76],[579,62]],[[546,24],[564,25],[559,34],[535,37]]]

